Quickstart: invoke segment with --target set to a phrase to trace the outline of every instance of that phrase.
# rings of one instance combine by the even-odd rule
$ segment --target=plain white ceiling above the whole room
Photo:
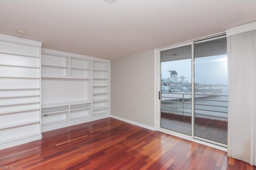
[[[0,33],[115,59],[256,20],[256,0],[0,0]],[[24,29],[27,35],[18,35]]]

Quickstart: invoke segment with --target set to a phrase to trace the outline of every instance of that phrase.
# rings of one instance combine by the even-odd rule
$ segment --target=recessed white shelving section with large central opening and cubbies
[[[42,131],[110,115],[110,61],[42,49]]]

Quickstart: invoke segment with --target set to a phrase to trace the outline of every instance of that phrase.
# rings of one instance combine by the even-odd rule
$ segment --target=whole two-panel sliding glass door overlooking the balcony
[[[226,37],[160,52],[160,127],[226,146],[228,68]]]

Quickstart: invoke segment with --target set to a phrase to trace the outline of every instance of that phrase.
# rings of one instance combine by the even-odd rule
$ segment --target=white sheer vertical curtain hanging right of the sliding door
[[[256,21],[226,33],[228,156],[256,165]]]

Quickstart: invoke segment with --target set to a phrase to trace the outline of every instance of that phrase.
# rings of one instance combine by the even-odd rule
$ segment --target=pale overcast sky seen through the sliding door
[[[191,59],[161,63],[162,78],[169,78],[168,70],[176,70],[178,77],[185,76],[191,83]],[[227,55],[195,59],[195,82],[200,84],[228,84]]]

